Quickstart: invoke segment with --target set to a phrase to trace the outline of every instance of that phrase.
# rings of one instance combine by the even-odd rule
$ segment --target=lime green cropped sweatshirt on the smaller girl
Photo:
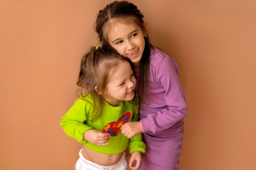
[[[89,102],[85,101],[88,100]],[[65,133],[76,139],[78,142],[84,144],[86,147],[104,154],[117,154],[123,152],[130,141],[130,153],[133,151],[146,152],[146,145],[142,141],[142,135],[135,135],[128,139],[121,132],[115,137],[110,137],[108,140],[109,145],[98,146],[94,145],[83,139],[83,134],[86,130],[95,129],[102,131],[104,126],[112,121],[117,121],[119,117],[126,112],[131,113],[129,121],[138,121],[139,113],[138,109],[133,107],[128,101],[124,101],[121,106],[111,106],[105,102],[103,106],[102,115],[96,121],[91,121],[92,117],[87,117],[92,112],[92,98],[91,95],[87,95],[84,99],[77,99],[74,105],[68,110],[60,125]]]

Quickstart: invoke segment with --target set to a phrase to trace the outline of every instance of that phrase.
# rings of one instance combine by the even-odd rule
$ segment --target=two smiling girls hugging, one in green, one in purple
[[[75,169],[178,170],[187,106],[177,62],[128,1],[99,10],[95,31],[101,46],[83,56],[79,99],[60,123],[83,144]]]

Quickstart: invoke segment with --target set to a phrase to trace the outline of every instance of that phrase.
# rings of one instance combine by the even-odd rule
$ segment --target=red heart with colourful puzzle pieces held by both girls
[[[106,124],[104,126],[104,128],[102,129],[103,133],[110,133],[110,135],[113,136],[117,136],[118,133],[121,131],[120,128],[123,124],[125,124],[126,122],[128,122],[130,120],[131,117],[131,113],[130,112],[126,112],[124,114],[122,114],[117,121],[112,121],[108,124]]]

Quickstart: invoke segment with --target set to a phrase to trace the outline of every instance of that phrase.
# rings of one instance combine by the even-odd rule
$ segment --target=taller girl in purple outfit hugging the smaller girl
[[[177,62],[150,44],[143,17],[134,4],[115,1],[99,11],[95,30],[103,46],[112,46],[135,66],[140,121],[124,124],[121,132],[128,138],[143,132],[140,170],[178,170],[186,99]]]

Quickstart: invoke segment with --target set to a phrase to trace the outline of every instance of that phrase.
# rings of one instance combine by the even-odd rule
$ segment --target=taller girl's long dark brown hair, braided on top
[[[115,22],[124,22],[137,24],[141,30],[146,34],[144,37],[145,48],[143,55],[140,60],[139,71],[139,91],[141,92],[140,102],[147,99],[149,90],[149,66],[150,66],[150,48],[153,46],[150,43],[149,37],[147,35],[147,28],[144,25],[144,15],[137,9],[137,7],[128,1],[115,1],[112,2],[102,10],[99,11],[97,19],[94,25],[94,29],[98,34],[100,42],[104,46],[110,46],[108,43],[108,33],[111,29],[112,24]]]

